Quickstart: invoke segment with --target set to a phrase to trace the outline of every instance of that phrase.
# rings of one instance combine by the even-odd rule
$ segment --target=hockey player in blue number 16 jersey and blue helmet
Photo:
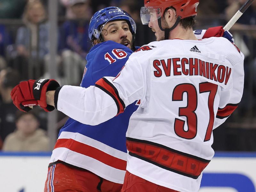
[[[117,7],[96,12],[89,26],[93,47],[81,86],[116,76],[135,51],[135,33],[135,22],[127,12]],[[69,118],[52,151],[44,191],[120,191],[126,171],[125,133],[137,108],[135,102],[125,113],[96,126]]]

